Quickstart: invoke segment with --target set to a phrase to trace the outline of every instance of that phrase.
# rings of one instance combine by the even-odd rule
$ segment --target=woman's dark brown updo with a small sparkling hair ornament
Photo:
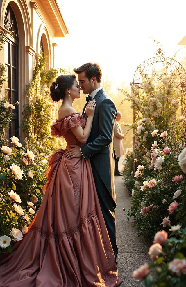
[[[50,96],[54,102],[64,99],[66,89],[74,85],[75,75],[60,75],[50,85]]]

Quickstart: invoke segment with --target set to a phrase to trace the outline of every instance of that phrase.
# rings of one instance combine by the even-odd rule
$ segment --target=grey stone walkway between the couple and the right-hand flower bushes
[[[147,254],[150,242],[142,237],[136,237],[137,229],[133,218],[127,220],[127,211],[130,208],[130,194],[124,187],[122,176],[115,176],[115,189],[117,198],[116,224],[117,224],[117,267],[119,278],[123,280],[121,287],[144,286],[140,280],[134,279],[131,274],[133,270],[149,261]],[[123,211],[125,208],[125,211]]]

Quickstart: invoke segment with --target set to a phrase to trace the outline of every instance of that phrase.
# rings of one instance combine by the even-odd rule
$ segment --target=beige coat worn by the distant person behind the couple
[[[120,157],[121,155],[124,155],[122,136],[123,136],[122,129],[119,123],[115,121],[113,144],[114,144],[116,157]]]

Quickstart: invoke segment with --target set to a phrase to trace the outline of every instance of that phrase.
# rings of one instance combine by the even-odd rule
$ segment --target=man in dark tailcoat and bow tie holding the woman
[[[72,158],[83,155],[85,159],[90,158],[101,210],[116,260],[118,253],[114,186],[114,161],[116,157],[112,142],[117,114],[116,106],[101,87],[102,73],[98,64],[86,63],[74,69],[74,72],[78,74],[79,86],[83,93],[89,94],[89,97],[86,97],[87,103],[83,108],[84,118],[86,118],[85,109],[89,100],[96,100],[96,108],[87,144],[81,148],[72,146],[74,148],[66,153],[66,157]]]

